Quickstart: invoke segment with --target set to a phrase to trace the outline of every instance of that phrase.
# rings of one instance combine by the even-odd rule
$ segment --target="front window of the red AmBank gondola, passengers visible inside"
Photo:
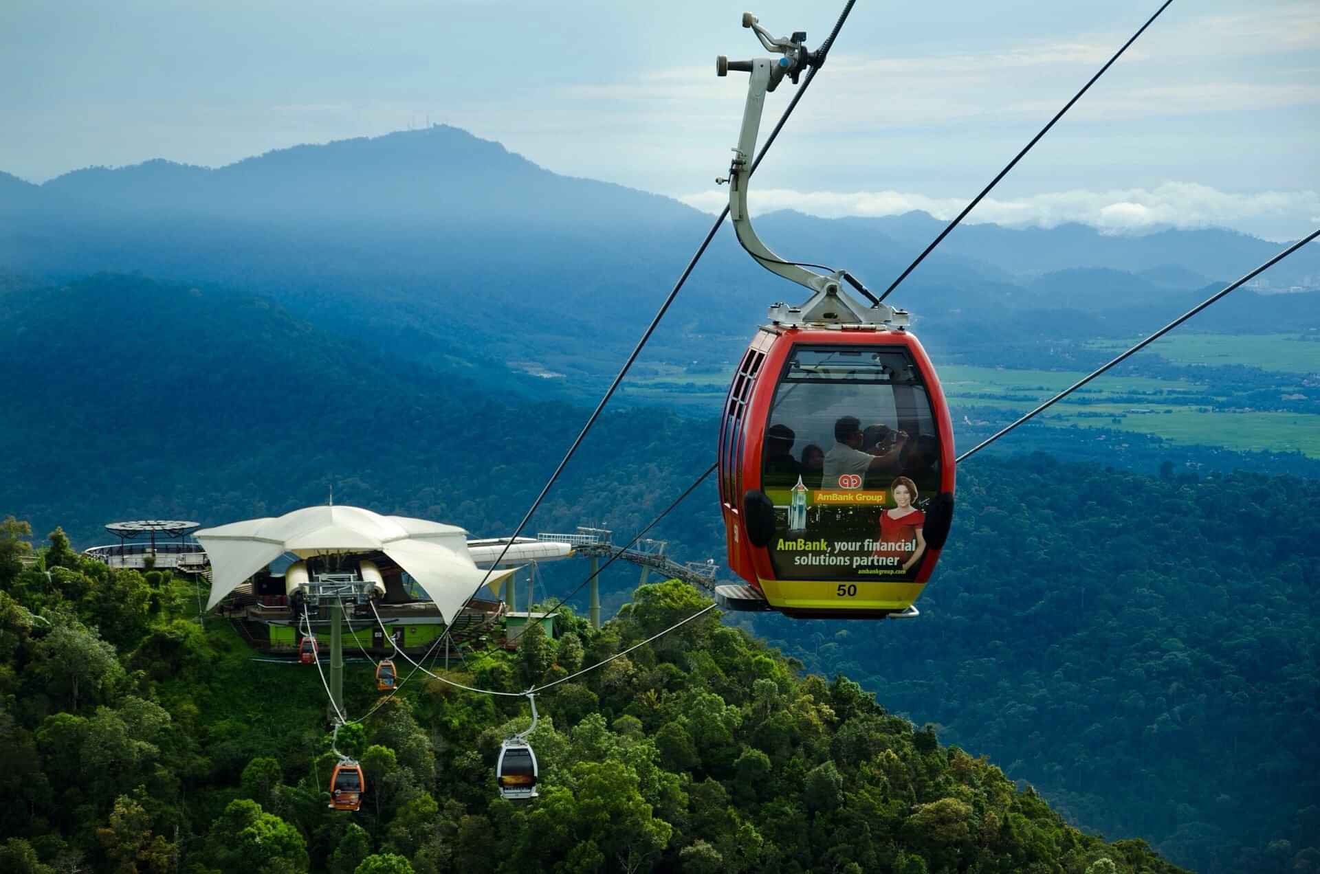
[[[939,429],[903,347],[792,350],[762,453],[776,577],[913,580],[923,510],[939,487]]]

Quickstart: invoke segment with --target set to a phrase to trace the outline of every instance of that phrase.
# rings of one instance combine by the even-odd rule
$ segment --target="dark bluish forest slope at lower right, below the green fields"
[[[1320,863],[1320,483],[1034,454],[958,486],[920,628],[747,627],[1072,821],[1203,871]]]

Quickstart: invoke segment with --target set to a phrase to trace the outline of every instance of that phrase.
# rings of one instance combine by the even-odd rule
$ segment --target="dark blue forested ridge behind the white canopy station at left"
[[[586,419],[494,362],[421,367],[267,298],[140,276],[0,285],[0,516],[59,520],[82,545],[125,515],[211,524],[331,486],[507,533]],[[713,441],[665,411],[607,412],[537,524],[640,524],[636,471],[668,499],[700,473],[692,445]]]

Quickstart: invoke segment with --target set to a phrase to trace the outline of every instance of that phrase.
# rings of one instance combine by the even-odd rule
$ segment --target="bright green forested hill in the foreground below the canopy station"
[[[1177,871],[1138,840],[1067,825],[983,758],[940,746],[837,676],[800,676],[718,614],[541,696],[541,797],[494,792],[519,697],[417,675],[339,730],[368,791],[326,808],[313,668],[249,660],[193,585],[111,570],[55,531],[0,533],[0,869],[45,871]],[[640,588],[599,631],[566,614],[516,652],[478,643],[451,679],[566,677],[708,603]],[[187,618],[193,617],[193,618]],[[350,713],[378,698],[347,675]]]

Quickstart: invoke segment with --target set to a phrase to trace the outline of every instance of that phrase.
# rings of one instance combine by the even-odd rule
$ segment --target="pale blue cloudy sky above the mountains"
[[[445,123],[714,211],[747,87],[714,57],[764,54],[744,5],[814,48],[842,1],[5,0],[0,170],[220,166]],[[752,209],[950,218],[1158,7],[858,0]],[[969,220],[1303,236],[1320,227],[1317,74],[1316,0],[1175,0]]]

